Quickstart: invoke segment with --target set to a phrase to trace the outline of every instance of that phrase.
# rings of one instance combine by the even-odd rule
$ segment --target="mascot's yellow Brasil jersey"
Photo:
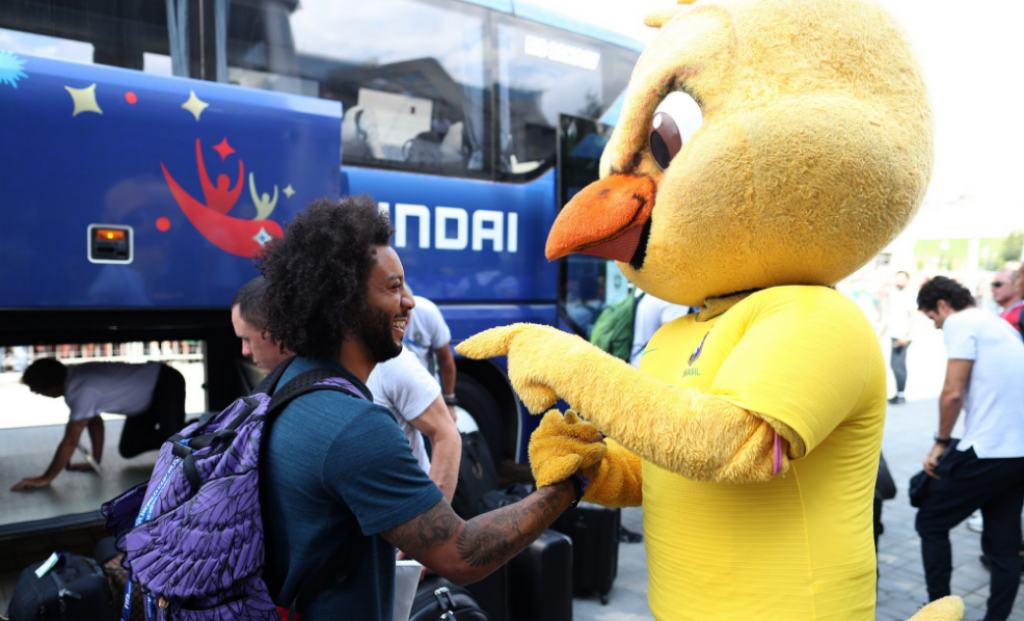
[[[871,499],[886,411],[873,330],[824,287],[775,287],[695,318],[662,328],[640,369],[782,422],[807,455],[746,485],[697,483],[645,461],[651,611],[664,621],[873,618]]]

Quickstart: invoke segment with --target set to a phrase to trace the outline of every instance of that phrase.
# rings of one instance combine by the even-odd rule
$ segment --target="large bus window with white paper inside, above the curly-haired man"
[[[229,81],[341,101],[346,165],[489,175],[485,9],[450,0],[269,8],[281,4],[232,2]]]

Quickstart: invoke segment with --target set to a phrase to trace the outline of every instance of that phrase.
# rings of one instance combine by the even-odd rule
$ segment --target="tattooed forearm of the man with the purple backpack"
[[[474,518],[456,540],[459,555],[471,567],[508,561],[551,526],[573,493],[571,484],[545,487],[520,502]]]

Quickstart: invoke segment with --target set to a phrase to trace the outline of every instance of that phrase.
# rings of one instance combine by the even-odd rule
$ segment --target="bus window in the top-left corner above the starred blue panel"
[[[163,2],[5,1],[0,49],[170,74]]]

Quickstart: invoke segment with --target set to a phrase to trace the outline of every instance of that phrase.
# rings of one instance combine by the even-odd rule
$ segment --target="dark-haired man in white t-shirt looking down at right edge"
[[[949,358],[939,430],[925,459],[933,480],[916,519],[928,594],[933,601],[950,594],[949,530],[980,508],[982,550],[992,573],[985,619],[1009,619],[1021,577],[1024,343],[1010,324],[975,308],[971,292],[948,278],[922,287],[918,306],[943,331]],[[962,408],[964,438],[950,450]]]

